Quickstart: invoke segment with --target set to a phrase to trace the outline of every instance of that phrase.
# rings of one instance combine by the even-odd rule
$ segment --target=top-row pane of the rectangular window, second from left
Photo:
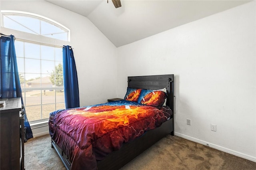
[[[25,57],[40,59],[40,45],[25,43]]]

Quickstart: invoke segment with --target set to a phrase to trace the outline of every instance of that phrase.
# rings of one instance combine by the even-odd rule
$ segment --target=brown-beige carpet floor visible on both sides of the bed
[[[65,170],[50,135],[25,143],[26,170]],[[256,170],[256,162],[168,135],[121,170]]]

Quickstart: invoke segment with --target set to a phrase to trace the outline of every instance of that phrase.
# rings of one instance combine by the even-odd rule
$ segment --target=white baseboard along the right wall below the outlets
[[[256,157],[253,157],[253,156],[250,156],[250,155],[246,155],[246,154],[243,154],[243,153],[240,153],[240,152],[236,152],[234,150],[231,150],[231,149],[228,149],[228,148],[224,148],[222,146],[218,146],[216,144],[212,144],[212,143],[209,143],[209,142],[197,139],[197,138],[193,138],[193,137],[190,137],[190,136],[187,136],[185,134],[178,133],[178,132],[174,132],[174,135],[175,136],[180,136],[180,137],[188,139],[188,140],[191,140],[193,142],[197,142],[197,143],[209,146],[211,148],[215,148],[217,150],[221,150],[223,152],[226,152],[226,153],[229,153],[229,154],[232,154],[232,155],[235,155],[235,156],[247,159],[247,160],[251,160],[253,162],[256,162]]]

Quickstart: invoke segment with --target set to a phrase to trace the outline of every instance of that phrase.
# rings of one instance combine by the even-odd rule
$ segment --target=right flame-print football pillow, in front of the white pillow
[[[164,91],[142,89],[138,103],[150,106],[162,106],[166,98],[167,94]]]

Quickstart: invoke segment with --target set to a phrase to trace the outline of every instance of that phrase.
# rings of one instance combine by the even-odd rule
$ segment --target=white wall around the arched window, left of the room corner
[[[74,48],[80,106],[105,103],[107,99],[116,97],[117,49],[88,18],[46,1],[1,1],[0,9],[38,14],[70,29],[71,41],[57,45],[71,45]],[[13,34],[16,38],[26,35],[4,28],[1,33]]]

